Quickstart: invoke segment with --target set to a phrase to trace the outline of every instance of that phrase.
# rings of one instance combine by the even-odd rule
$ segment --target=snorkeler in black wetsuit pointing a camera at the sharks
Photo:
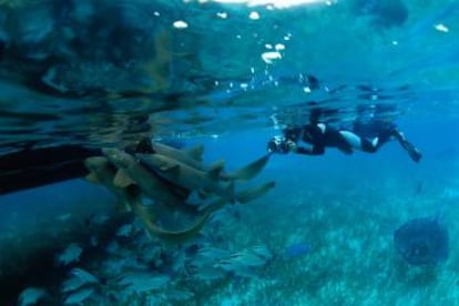
[[[366,136],[370,132],[376,134],[373,139]],[[353,153],[354,150],[375,153],[392,136],[408,152],[411,160],[419,162],[421,153],[405,139],[394,123],[385,121],[367,123],[356,121],[353,130],[338,130],[320,122],[313,122],[302,128],[286,128],[283,130],[283,135],[275,136],[268,142],[267,149],[272,153],[295,152],[306,155],[322,155],[325,153],[325,147],[336,147],[346,154]],[[298,146],[300,141],[309,146]]]

